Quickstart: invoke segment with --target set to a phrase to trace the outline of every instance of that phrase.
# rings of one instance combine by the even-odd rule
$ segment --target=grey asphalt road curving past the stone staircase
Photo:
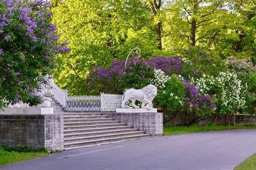
[[[232,170],[256,153],[256,129],[158,136],[54,153],[0,170]]]

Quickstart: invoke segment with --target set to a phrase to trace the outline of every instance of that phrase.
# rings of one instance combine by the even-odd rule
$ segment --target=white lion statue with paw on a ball
[[[153,106],[152,101],[155,96],[157,96],[157,87],[154,85],[147,85],[146,87],[139,90],[136,90],[133,88],[129,89],[125,91],[124,95],[122,96],[122,108],[132,108],[125,105],[125,103],[127,103],[128,100],[131,100],[131,105],[134,108],[140,108],[139,106],[135,105],[136,100],[142,102],[141,108],[146,108],[145,104],[147,103],[148,103],[147,106],[152,108]]]

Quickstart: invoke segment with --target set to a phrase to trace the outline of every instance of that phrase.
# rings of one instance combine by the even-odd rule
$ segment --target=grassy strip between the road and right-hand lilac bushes
[[[255,125],[245,127],[234,127],[234,126],[191,126],[191,127],[163,127],[163,135],[176,135],[180,133],[194,133],[194,132],[205,132],[212,130],[231,130],[231,129],[252,129],[256,128]]]

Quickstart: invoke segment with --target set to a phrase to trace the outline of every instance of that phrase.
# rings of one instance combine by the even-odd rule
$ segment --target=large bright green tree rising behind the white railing
[[[70,54],[58,55],[55,82],[70,94],[88,94],[87,76],[97,66],[123,60],[135,47],[140,56],[158,53],[150,7],[137,0],[64,0],[52,8],[53,21]]]

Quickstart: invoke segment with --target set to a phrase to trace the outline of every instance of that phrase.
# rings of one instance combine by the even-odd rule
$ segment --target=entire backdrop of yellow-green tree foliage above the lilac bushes
[[[124,60],[182,54],[200,46],[223,59],[255,63],[256,3],[252,0],[52,0],[53,22],[71,53],[56,57],[55,82],[69,94],[90,94],[90,70]]]

